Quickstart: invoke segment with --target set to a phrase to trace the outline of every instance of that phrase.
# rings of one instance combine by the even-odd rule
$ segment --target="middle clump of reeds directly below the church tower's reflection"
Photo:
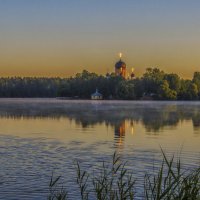
[[[99,173],[92,178],[96,199],[132,200],[134,199],[135,180],[126,169],[126,162],[114,153],[112,164],[104,162]]]

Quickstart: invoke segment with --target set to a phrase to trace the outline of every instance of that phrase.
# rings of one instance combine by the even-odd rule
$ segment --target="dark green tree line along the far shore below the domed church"
[[[191,80],[158,68],[147,68],[141,77],[134,79],[86,70],[70,78],[0,78],[0,97],[88,99],[96,88],[104,99],[199,100],[200,72],[195,72]]]

